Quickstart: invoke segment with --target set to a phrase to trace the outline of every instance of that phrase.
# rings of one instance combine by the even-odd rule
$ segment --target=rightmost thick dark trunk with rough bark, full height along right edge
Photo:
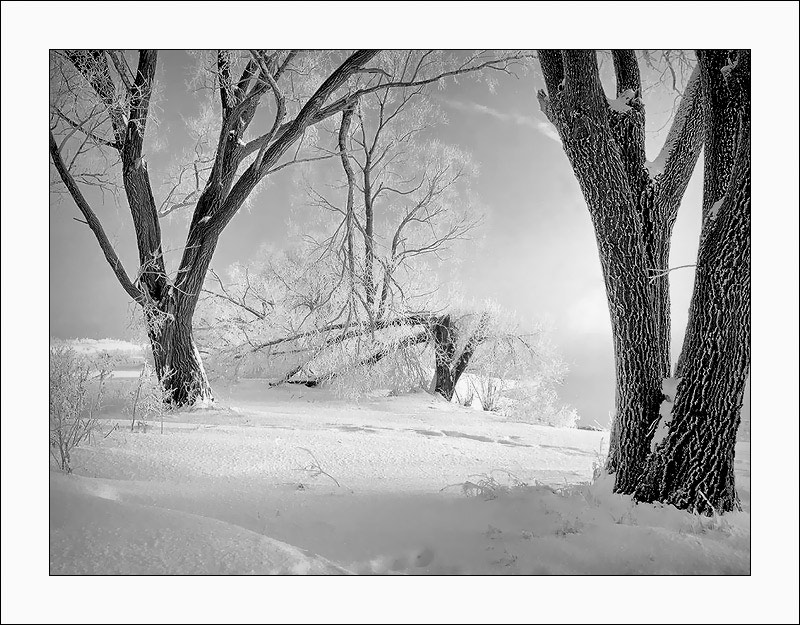
[[[740,509],[736,432],[750,366],[750,52],[699,51],[706,104],[703,228],[666,438],[636,497]]]

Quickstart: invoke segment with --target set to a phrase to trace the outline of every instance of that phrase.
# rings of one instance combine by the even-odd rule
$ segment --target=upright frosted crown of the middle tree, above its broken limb
[[[387,64],[393,78],[400,61]],[[341,184],[310,186],[310,205],[333,217],[318,241],[339,257],[350,289],[342,314],[370,323],[419,309],[411,275],[439,264],[481,219],[469,192],[470,155],[432,140],[443,121],[424,86],[375,93],[344,112],[337,129]]]

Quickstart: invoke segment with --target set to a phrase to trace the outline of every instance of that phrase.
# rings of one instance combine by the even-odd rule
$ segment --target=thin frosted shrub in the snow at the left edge
[[[50,348],[50,455],[62,471],[72,472],[72,450],[91,441],[113,370],[109,354],[81,356],[69,347]]]

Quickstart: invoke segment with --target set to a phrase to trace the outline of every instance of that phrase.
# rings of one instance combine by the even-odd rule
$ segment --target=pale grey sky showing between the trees
[[[182,51],[160,54],[157,78],[164,89],[163,110],[160,126],[148,126],[148,133],[157,130],[165,143],[158,152],[146,154],[151,173],[188,145],[180,115],[199,111],[195,94],[185,84],[186,69],[194,63]],[[436,135],[473,154],[480,166],[473,188],[488,212],[478,244],[468,246],[459,265],[458,279],[468,285],[464,295],[469,299],[492,298],[523,318],[549,319],[554,339],[570,365],[562,399],[578,409],[585,423],[607,424],[614,403],[613,352],[597,247],[567,158],[539,111],[536,90],[542,86],[533,72],[519,79],[500,77],[494,93],[471,80],[436,91],[449,120]],[[664,89],[645,96],[653,120],[648,127],[663,124],[673,98]],[[648,137],[651,159],[665,134]],[[268,179],[252,209],[240,211],[223,233],[212,267],[224,271],[234,261],[251,258],[262,243],[280,246],[285,242],[291,201],[298,195],[289,170]],[[97,193],[87,196],[116,242],[128,273],[135,273],[127,206],[117,208]],[[702,158],[675,225],[672,267],[695,262],[701,196]],[[156,199],[160,200],[158,192]],[[89,229],[72,219],[78,215],[69,198],[51,203],[50,333],[59,338],[124,338],[130,333],[129,298]],[[167,221],[163,227],[165,249],[179,250],[185,221]],[[693,277],[693,269],[676,271],[671,277],[675,357]]]

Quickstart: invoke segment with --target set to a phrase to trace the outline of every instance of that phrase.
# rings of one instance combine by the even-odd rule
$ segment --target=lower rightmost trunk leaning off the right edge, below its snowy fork
[[[739,509],[734,448],[750,365],[750,147],[697,266],[693,331],[669,433],[650,459],[640,501],[711,513]]]

